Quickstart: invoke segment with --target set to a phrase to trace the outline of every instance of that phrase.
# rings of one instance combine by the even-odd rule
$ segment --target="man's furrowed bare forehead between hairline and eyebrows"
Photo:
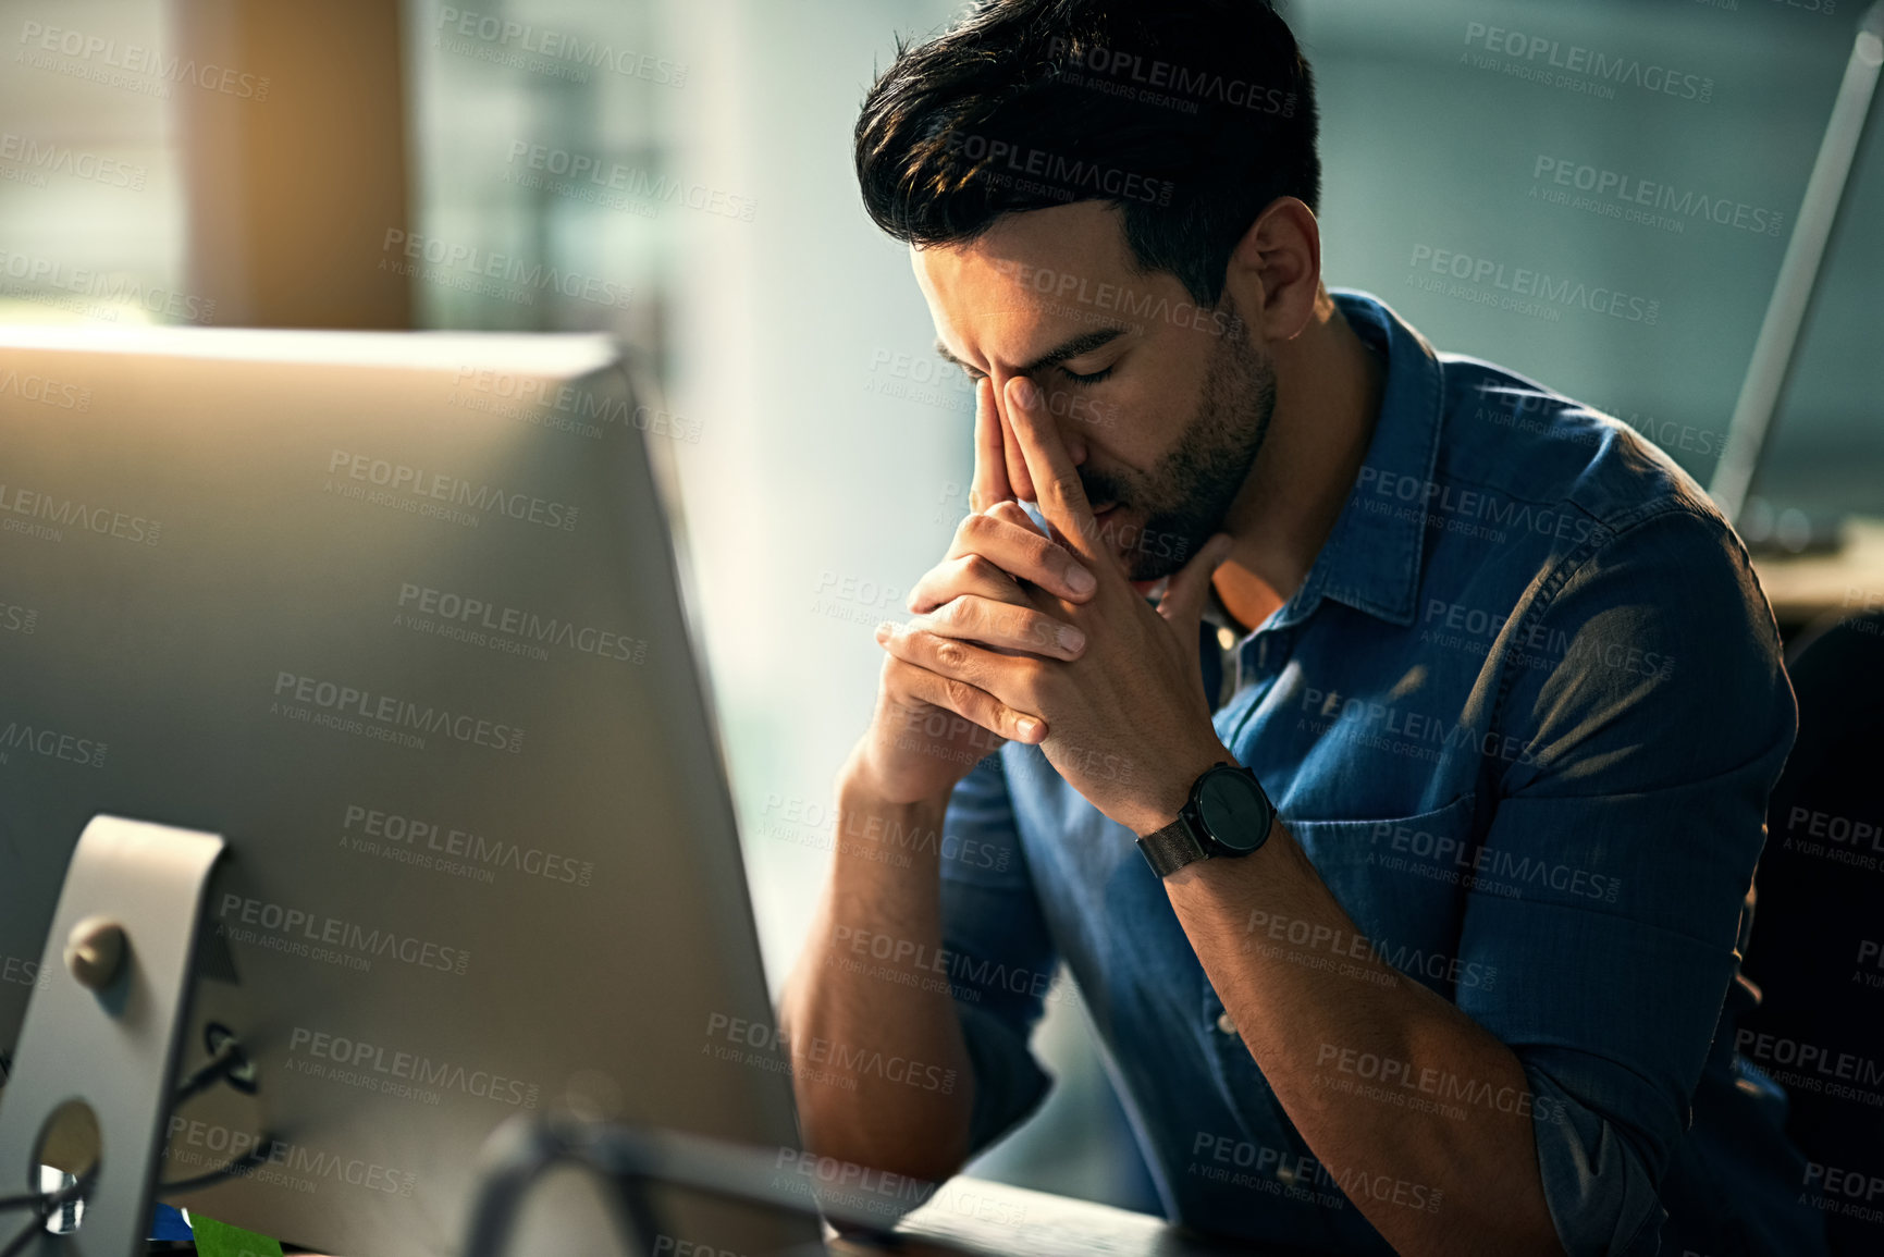
[[[910,249],[910,266],[936,335],[966,362],[1025,362],[1042,341],[1089,332],[1115,309],[1098,303],[1102,286],[1159,279],[1134,266],[1119,213],[1102,202],[1006,215],[966,245]]]

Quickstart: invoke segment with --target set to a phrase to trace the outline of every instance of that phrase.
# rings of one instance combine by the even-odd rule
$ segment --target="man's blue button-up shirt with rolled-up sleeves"
[[[1509,1046],[1528,1099],[1302,1050],[1356,1102],[1528,1106],[1567,1253],[1822,1253],[1784,1097],[1733,1052],[1795,731],[1745,548],[1624,424],[1336,302],[1387,362],[1366,464],[1302,588],[1228,654],[1206,626],[1200,652],[1228,694],[1217,735],[1360,937],[1260,920],[1247,944],[1307,939],[1330,999],[1358,995],[1343,961],[1372,946]],[[982,854],[942,880],[976,1150],[1049,1086],[1029,1033],[1064,961],[1172,1221],[1387,1253],[1362,1193],[1443,1216],[1430,1185],[1313,1157],[1134,835],[1038,746],[983,759],[946,833]]]

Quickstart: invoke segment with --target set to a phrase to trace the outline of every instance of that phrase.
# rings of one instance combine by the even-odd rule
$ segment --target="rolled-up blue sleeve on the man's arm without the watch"
[[[1055,969],[1000,754],[955,786],[942,825],[942,946],[974,1069],[970,1151],[1027,1118],[1051,1078],[1029,1048]]]

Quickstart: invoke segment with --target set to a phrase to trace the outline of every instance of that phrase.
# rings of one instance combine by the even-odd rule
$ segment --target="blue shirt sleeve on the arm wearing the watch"
[[[1745,550],[1696,505],[1592,539],[1513,633],[1460,942],[1513,980],[1458,1006],[1530,1080],[1564,1249],[1654,1253],[1792,688]]]

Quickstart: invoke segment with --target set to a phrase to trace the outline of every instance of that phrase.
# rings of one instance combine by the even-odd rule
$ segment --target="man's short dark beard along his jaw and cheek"
[[[1098,531],[1106,547],[1123,548],[1130,580],[1176,573],[1223,528],[1270,432],[1275,367],[1249,343],[1228,294],[1223,309],[1228,330],[1211,351],[1204,396],[1178,445],[1151,471],[1080,467],[1087,501],[1119,507]],[[1127,511],[1144,520],[1136,537],[1130,526],[1119,528]]]

